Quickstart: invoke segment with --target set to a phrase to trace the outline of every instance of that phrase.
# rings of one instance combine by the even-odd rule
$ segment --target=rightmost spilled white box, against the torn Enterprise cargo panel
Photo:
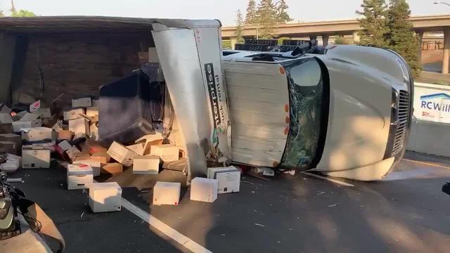
[[[240,188],[240,170],[236,167],[208,168],[208,179],[217,179],[217,193],[237,193]]]

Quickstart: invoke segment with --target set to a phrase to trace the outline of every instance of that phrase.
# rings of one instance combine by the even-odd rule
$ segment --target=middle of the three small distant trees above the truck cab
[[[260,24],[259,39],[277,37],[274,30],[277,19],[276,14],[276,6],[272,0],[261,0],[257,9],[257,18]]]

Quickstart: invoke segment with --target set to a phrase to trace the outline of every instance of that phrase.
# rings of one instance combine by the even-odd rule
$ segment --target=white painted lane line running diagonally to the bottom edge
[[[158,229],[158,231],[160,231],[161,233],[167,235],[169,238],[172,238],[172,240],[178,242],[187,249],[191,250],[191,252],[212,253],[210,250],[206,249],[202,245],[199,245],[197,242],[194,242],[193,240],[187,238],[185,235],[174,230],[174,228],[171,228],[167,226],[167,224],[160,221],[159,219],[156,219],[155,216],[152,216],[151,214],[148,214],[148,212],[143,211],[143,209],[131,204],[131,202],[125,200],[123,197],[122,197],[122,207],[125,207],[129,212],[132,212],[134,215],[143,219],[143,221],[149,223],[151,226],[153,226],[153,228]]]

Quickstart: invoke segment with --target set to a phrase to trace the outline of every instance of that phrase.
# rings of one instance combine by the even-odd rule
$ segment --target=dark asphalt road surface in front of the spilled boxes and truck
[[[446,169],[449,167],[449,169]],[[93,214],[83,190],[66,190],[65,169],[28,169],[13,177],[27,197],[53,218],[66,252],[188,252],[127,209]],[[244,176],[240,193],[212,204],[151,205],[155,181],[181,181],[177,171],[104,176],[117,181],[122,197],[212,252],[448,252],[450,161],[409,153],[384,181],[354,187],[304,174],[272,181]]]

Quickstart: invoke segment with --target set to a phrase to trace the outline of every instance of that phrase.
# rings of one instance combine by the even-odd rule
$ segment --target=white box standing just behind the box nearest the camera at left
[[[89,164],[68,164],[68,190],[89,189],[94,176]]]

